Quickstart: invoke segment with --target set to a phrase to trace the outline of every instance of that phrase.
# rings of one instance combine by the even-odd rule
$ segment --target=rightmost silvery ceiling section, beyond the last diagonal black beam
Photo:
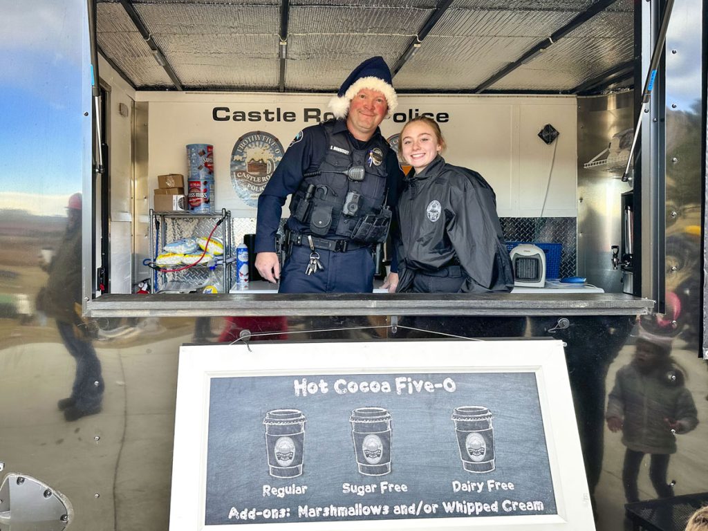
[[[489,88],[569,91],[633,55],[632,13],[600,13]]]

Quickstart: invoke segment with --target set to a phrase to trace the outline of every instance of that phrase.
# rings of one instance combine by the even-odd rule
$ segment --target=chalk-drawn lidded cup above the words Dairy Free
[[[494,418],[484,406],[461,406],[452,412],[462,467],[467,472],[491,472],[494,469]]]

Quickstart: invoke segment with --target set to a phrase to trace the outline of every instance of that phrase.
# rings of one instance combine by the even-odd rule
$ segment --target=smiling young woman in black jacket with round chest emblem
[[[399,196],[396,292],[508,292],[513,270],[494,190],[476,171],[447,164],[444,149],[428,117],[401,131],[399,152],[413,169]]]

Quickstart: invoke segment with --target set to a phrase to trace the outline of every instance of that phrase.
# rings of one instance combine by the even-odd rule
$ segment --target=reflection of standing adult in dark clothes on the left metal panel
[[[40,260],[49,273],[40,292],[41,307],[57,321],[59,336],[76,361],[72,394],[57,402],[67,421],[101,411],[103,377],[89,329],[81,319],[81,194],[69,198],[67,229],[52,261]]]

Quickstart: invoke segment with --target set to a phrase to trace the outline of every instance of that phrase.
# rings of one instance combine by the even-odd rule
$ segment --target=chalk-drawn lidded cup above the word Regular
[[[273,477],[302,475],[305,416],[299,409],[273,409],[265,413],[268,473]]]

